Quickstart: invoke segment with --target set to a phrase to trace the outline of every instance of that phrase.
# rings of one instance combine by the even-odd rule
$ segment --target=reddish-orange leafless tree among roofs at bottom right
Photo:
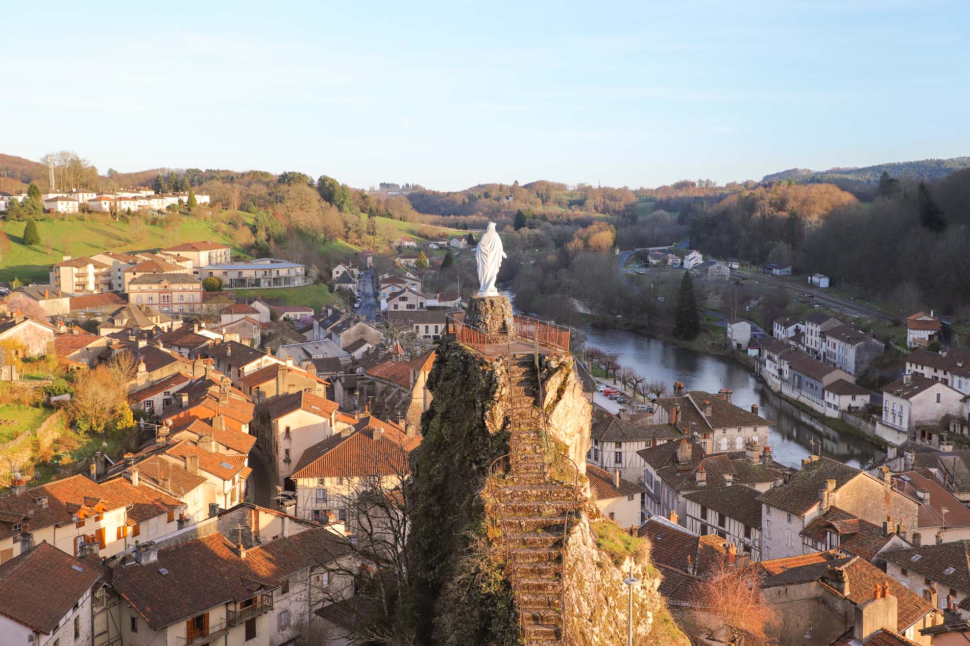
[[[748,560],[719,559],[695,588],[693,605],[703,617],[708,641],[729,646],[769,646],[777,621],[761,593],[761,573]]]

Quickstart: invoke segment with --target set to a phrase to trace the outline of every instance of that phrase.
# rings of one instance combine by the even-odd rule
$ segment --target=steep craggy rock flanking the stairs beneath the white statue
[[[484,314],[492,321],[504,316],[501,305],[484,304],[498,299],[474,300],[482,301],[476,316]],[[507,303],[503,297],[501,300]],[[535,624],[553,622],[539,621],[534,610],[520,611],[486,475],[492,461],[510,450],[510,402],[518,411],[522,398],[531,395],[513,384],[502,358],[489,359],[447,339],[438,352],[429,378],[434,399],[422,417],[424,440],[415,460],[409,543],[413,574],[409,599],[404,600],[401,611],[406,621],[414,622],[416,643],[516,646],[525,624],[532,631],[530,643],[558,644],[566,636],[570,646],[625,644],[629,588],[623,580],[630,568],[642,580],[634,592],[634,643],[687,643],[675,628],[663,637],[657,631],[659,616],[667,630],[671,624],[657,594],[660,579],[651,574],[646,550],[622,558],[600,550],[590,518],[611,521],[599,517],[598,509],[589,502],[580,503],[573,512],[562,548],[565,595],[563,586],[536,579],[534,573],[524,574],[532,577],[524,592],[533,602],[548,594],[550,607],[556,608],[560,596],[565,598],[565,635],[550,630],[544,636]],[[534,374],[530,358],[520,357],[519,367],[513,366],[516,374],[529,365]],[[541,356],[537,373],[543,396],[541,401],[536,396],[536,407],[542,407],[552,444],[565,450],[580,470],[581,499],[586,501],[591,407],[573,372],[572,357]],[[555,542],[563,544],[562,539]],[[559,566],[555,568],[558,572]]]

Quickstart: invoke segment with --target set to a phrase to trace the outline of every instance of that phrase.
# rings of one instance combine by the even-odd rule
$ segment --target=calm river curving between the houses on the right
[[[760,415],[774,422],[765,444],[771,446],[777,462],[798,466],[812,446],[820,452],[820,445],[822,455],[853,467],[869,466],[886,455],[878,446],[840,435],[805,415],[756,381],[748,368],[737,361],[678,348],[626,330],[579,329],[586,335],[588,346],[618,354],[623,364],[648,380],[660,379],[667,385],[682,382],[688,390],[713,393],[730,388],[737,406],[750,409],[752,404],[758,404]]]

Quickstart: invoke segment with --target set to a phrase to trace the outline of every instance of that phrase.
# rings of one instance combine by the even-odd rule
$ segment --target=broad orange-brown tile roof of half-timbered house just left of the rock
[[[397,424],[366,417],[353,430],[307,448],[292,477],[404,476],[407,453],[420,443],[420,436],[407,437]]]

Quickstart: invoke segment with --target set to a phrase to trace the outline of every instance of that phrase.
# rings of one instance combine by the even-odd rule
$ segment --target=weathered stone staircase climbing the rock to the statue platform
[[[493,494],[526,644],[565,646],[563,538],[575,487],[550,470],[533,354],[513,357],[510,368],[512,452]]]

